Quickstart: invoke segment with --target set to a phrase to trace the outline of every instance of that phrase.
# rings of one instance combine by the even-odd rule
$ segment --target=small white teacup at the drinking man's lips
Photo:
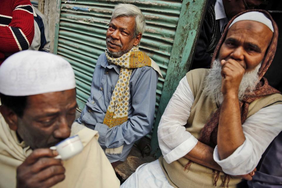
[[[51,150],[57,150],[59,153],[55,159],[67,160],[83,150],[82,142],[78,135],[68,137],[55,146],[50,147]]]

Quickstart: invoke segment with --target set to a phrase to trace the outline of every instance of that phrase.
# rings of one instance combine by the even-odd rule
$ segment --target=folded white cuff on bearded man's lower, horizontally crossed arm
[[[191,135],[191,137],[182,142],[182,144],[175,147],[167,155],[164,155],[165,161],[169,164],[173,161],[180,159],[181,157],[185,156],[188,152],[190,152],[197,143],[198,140],[193,135]]]

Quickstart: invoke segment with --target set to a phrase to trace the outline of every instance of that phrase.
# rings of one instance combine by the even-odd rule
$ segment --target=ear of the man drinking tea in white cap
[[[10,129],[16,131],[18,129],[18,116],[16,113],[5,105],[0,106],[0,112],[8,123]]]

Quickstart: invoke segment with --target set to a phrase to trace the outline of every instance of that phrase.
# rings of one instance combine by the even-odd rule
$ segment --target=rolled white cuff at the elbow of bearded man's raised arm
[[[214,161],[221,166],[223,172],[230,175],[242,175],[250,173],[254,168],[252,164],[253,145],[246,137],[244,143],[239,146],[229,157],[220,160],[217,145],[214,148]],[[254,167],[253,167],[254,166]]]

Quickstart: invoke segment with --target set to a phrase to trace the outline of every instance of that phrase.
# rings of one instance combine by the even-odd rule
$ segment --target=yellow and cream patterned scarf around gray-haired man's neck
[[[129,52],[123,54],[119,58],[111,58],[106,50],[106,57],[109,63],[120,66],[120,75],[115,85],[110,104],[108,106],[103,124],[112,128],[121,125],[128,119],[129,105],[129,80],[132,69],[143,66],[150,66],[156,70],[162,77],[161,71],[157,63],[153,61],[144,52],[139,51],[137,46],[134,46]]]

